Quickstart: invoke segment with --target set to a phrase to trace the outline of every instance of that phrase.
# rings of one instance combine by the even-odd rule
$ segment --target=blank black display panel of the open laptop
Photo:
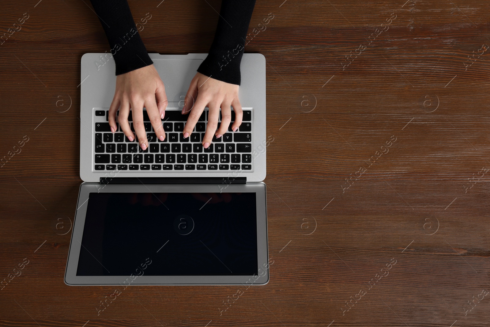
[[[77,276],[257,274],[255,192],[90,193],[87,205]]]

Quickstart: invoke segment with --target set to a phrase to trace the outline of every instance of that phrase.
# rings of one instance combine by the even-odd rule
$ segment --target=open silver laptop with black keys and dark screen
[[[205,53],[150,53],[169,104],[160,141],[144,110],[148,148],[110,131],[116,86],[110,53],[86,53],[80,76],[80,185],[67,285],[263,285],[266,210],[266,61],[241,63],[242,125],[203,149],[207,111],[182,138],[189,84]],[[233,112],[233,111],[232,111]],[[221,115],[220,115],[221,119]],[[234,115],[232,115],[232,121]],[[116,120],[117,121],[117,120]],[[132,115],[129,116],[132,122]],[[132,124],[131,124],[132,125]]]

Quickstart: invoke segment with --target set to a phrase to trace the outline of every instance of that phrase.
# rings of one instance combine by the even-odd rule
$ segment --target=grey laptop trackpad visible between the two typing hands
[[[202,59],[153,59],[153,65],[165,84],[165,93],[169,102],[184,100],[191,80],[202,61]]]

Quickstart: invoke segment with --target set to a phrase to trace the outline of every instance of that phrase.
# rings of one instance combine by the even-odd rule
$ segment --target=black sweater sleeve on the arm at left
[[[116,75],[151,65],[127,0],[90,0],[116,62]]]

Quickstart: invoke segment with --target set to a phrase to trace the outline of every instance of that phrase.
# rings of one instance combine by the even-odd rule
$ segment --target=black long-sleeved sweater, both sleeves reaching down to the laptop
[[[116,75],[153,64],[141,40],[127,0],[91,0],[116,62]],[[240,62],[255,0],[222,0],[209,54],[197,71],[240,85]]]

